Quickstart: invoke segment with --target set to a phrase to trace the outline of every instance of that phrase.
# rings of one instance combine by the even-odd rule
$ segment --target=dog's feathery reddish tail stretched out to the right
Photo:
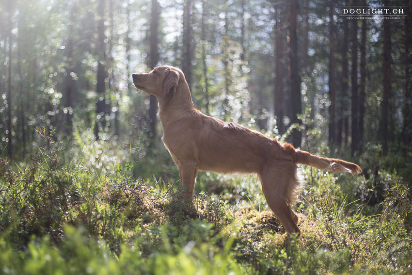
[[[287,148],[288,147],[288,148]],[[285,144],[286,151],[291,151],[290,144]],[[328,159],[312,155],[309,152],[301,151],[299,149],[294,150],[294,161],[305,165],[310,165],[321,170],[331,171],[333,173],[352,173],[359,174],[362,172],[359,165],[352,162],[345,162],[339,159]]]

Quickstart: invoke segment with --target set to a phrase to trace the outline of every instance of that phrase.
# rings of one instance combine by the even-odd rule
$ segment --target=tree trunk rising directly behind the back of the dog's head
[[[183,1],[183,58],[182,71],[185,74],[189,89],[191,90],[192,75],[191,62],[193,59],[193,43],[192,43],[192,6],[193,0]]]

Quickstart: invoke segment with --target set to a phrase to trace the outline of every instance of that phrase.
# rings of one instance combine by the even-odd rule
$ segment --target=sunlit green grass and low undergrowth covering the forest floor
[[[296,240],[251,176],[200,173],[190,203],[173,163],[147,167],[84,146],[70,158],[48,143],[19,165],[0,159],[0,274],[412,272],[407,181],[376,169],[371,151],[361,160],[368,179],[301,168]]]

